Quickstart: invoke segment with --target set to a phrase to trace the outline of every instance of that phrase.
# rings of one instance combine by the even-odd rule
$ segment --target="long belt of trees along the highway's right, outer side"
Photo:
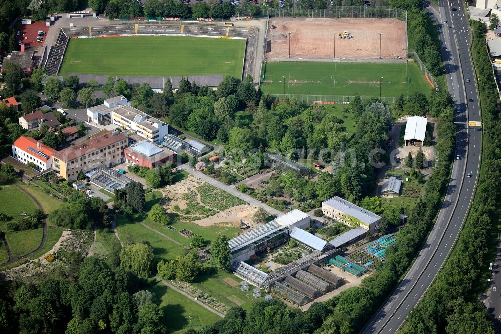
[[[471,21],[472,55],[482,100],[482,173],[469,217],[456,246],[421,303],[411,312],[405,333],[493,333],[477,293],[488,288],[485,273],[496,253],[501,187],[501,103],[485,42],[485,25]],[[475,176],[474,176],[475,177]],[[493,261],[492,261],[493,262]]]

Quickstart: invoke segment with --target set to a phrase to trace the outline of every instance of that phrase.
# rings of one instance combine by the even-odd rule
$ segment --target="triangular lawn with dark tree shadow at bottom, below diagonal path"
[[[160,301],[162,320],[168,333],[183,333],[189,328],[199,330],[202,326],[210,326],[221,320],[221,317],[160,282],[149,290]]]

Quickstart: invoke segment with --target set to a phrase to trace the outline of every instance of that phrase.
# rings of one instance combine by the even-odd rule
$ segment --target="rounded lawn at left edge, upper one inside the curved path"
[[[22,211],[32,214],[37,205],[25,193],[13,185],[0,188],[0,211],[12,218],[18,218]]]

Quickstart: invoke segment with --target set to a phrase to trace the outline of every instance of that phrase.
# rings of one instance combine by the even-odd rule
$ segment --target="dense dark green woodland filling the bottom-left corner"
[[[97,256],[75,272],[39,285],[13,281],[0,288],[0,330],[5,333],[165,333],[163,312],[137,278],[110,269]]]

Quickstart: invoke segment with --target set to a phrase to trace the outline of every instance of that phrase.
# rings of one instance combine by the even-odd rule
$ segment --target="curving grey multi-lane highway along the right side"
[[[480,121],[480,108],[469,53],[471,34],[459,0],[439,7],[424,3],[439,30],[447,86],[456,101],[456,121]],[[433,282],[451,251],[472,201],[480,161],[480,129],[457,125],[456,154],[444,203],[426,244],[409,272],[386,304],[364,329],[364,333],[394,333],[404,323]],[[471,177],[468,177],[470,175]]]

